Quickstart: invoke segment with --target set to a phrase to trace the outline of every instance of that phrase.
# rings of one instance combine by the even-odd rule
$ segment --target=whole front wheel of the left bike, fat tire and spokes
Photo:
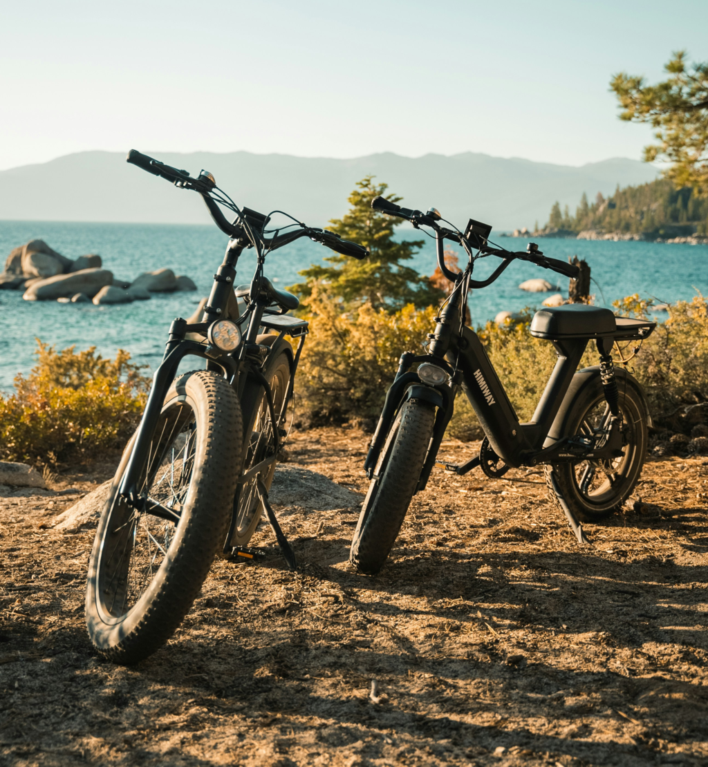
[[[202,588],[242,463],[238,397],[208,370],[173,383],[138,475],[141,511],[118,493],[134,439],[100,518],[86,593],[91,642],[116,663],[137,663],[162,646]],[[147,512],[151,502],[162,517]]]

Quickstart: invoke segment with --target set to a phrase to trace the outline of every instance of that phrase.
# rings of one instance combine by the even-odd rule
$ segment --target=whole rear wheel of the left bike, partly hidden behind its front
[[[275,351],[275,356],[272,359],[268,358],[263,374],[271,386],[275,417],[278,418],[282,413],[284,417],[281,423],[283,423],[285,410],[288,407],[288,403],[285,403],[284,410],[283,402],[290,383],[290,357],[288,353]],[[275,429],[278,428],[278,425],[272,423],[268,400],[262,387],[254,385],[251,396],[244,397],[243,402],[244,436],[247,439],[243,461],[243,473],[245,473],[272,456],[275,450]],[[229,537],[230,546],[247,546],[249,544],[255,528],[259,525],[262,512],[256,484],[260,479],[265,485],[265,489],[270,490],[274,474],[275,461],[236,488],[234,515]]]

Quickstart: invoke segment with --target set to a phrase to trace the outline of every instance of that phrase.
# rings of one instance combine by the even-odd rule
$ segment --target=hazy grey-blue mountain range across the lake
[[[137,147],[143,150],[143,147]],[[216,154],[147,151],[196,175],[202,168],[235,202],[261,212],[283,209],[311,225],[323,225],[347,209],[347,196],[372,173],[408,207],[434,206],[462,227],[474,218],[496,231],[544,225],[553,202],[575,211],[589,199],[614,192],[617,184],[646,183],[657,170],[637,160],[615,158],[579,168],[466,152],[453,156],[402,157],[390,152],[354,160],[231,152]],[[206,223],[193,193],[130,166],[118,152],[81,152],[49,163],[0,171],[0,219]]]

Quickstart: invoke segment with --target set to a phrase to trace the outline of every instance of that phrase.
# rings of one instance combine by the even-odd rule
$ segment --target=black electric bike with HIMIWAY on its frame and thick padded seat
[[[586,304],[536,312],[531,334],[551,341],[558,360],[532,420],[519,423],[482,342],[464,324],[469,289],[491,285],[515,259],[570,278],[577,278],[578,267],[546,257],[533,242],[525,252],[492,247],[492,227],[473,219],[460,232],[441,225],[444,219],[433,208],[423,213],[383,197],[371,207],[407,219],[416,228],[433,229],[437,264],[454,288],[438,311],[435,332],[428,335],[429,353],[400,357],[364,463],[371,482],[351,544],[351,564],[367,574],[384,565],[410,500],[425,488],[439,463],[437,452],[460,386],[486,436],[479,456],[462,466],[443,466],[460,475],[479,466],[486,476],[501,477],[512,466],[544,464],[552,496],[578,541],[587,542],[581,522],[595,522],[620,509],[639,479],[647,452],[647,400],[637,380],[614,366],[611,351],[616,341],[648,337],[656,324],[616,318],[609,309]],[[447,268],[446,239],[465,250],[463,272]],[[476,262],[487,256],[502,262],[486,279],[474,280]],[[600,364],[577,370],[590,340],[597,344]],[[413,365],[417,370],[411,370]]]

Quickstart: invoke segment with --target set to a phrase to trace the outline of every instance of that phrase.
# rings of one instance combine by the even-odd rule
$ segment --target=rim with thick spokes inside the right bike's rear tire
[[[585,411],[576,433],[591,436],[601,430],[610,418],[610,409],[603,397],[595,400]],[[637,424],[627,412],[620,407],[622,447],[624,456],[614,459],[586,460],[575,464],[572,479],[575,489],[581,498],[589,505],[606,505],[618,496],[624,497],[624,486],[631,482],[631,471],[634,450],[637,446]]]

